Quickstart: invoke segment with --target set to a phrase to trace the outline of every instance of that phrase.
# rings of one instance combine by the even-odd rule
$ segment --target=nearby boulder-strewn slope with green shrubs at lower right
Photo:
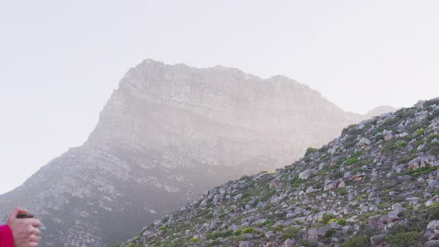
[[[439,98],[210,189],[121,246],[439,246]]]

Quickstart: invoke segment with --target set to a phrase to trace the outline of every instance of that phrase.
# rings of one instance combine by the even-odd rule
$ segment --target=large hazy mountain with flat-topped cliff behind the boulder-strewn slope
[[[283,76],[145,60],[78,148],[0,196],[43,221],[42,246],[108,246],[209,187],[288,165],[362,117]]]

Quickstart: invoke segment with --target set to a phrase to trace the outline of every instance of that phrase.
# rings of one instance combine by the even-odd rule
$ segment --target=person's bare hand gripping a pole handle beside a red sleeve
[[[14,247],[37,247],[40,235],[40,221],[34,218],[17,219],[20,213],[27,213],[25,209],[15,208],[8,218],[9,228],[14,236]]]

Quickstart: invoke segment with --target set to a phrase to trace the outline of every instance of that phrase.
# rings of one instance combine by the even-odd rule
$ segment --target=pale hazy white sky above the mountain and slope
[[[439,96],[439,1],[0,0],[0,193],[81,145],[145,58],[283,74],[344,110]]]

